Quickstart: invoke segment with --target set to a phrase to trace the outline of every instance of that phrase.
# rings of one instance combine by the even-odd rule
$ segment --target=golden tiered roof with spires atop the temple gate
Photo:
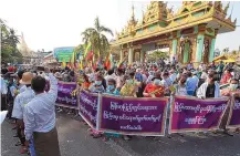
[[[143,19],[137,21],[134,17],[134,8],[131,20],[126,27],[116,33],[116,41],[112,45],[121,45],[128,42],[147,39],[149,37],[169,33],[202,23],[218,29],[218,33],[234,31],[237,19],[227,17],[227,7],[220,1],[184,1],[181,8],[174,13],[163,1],[152,1],[143,13]]]

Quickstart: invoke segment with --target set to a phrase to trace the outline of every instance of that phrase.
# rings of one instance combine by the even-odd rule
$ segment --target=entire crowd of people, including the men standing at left
[[[1,110],[8,110],[8,118],[17,126],[17,137],[22,145],[21,153],[31,155],[60,155],[55,128],[55,101],[58,81],[79,82],[79,85],[92,93],[114,96],[164,97],[171,95],[210,98],[240,96],[240,70],[234,63],[185,66],[177,61],[139,63],[106,69],[85,66],[77,71],[70,67],[46,69],[1,69]],[[76,110],[56,107],[58,112],[79,115]],[[102,132],[92,131],[94,137]],[[105,136],[119,136],[105,134]],[[124,139],[131,136],[124,135]],[[33,146],[34,145],[34,146]]]

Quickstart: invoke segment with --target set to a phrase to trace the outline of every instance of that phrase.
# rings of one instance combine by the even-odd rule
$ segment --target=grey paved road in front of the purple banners
[[[56,126],[62,156],[240,156],[240,135],[174,135],[157,139],[134,137],[133,141],[92,138],[87,126],[65,114],[58,114]],[[7,121],[1,125],[1,155],[19,156],[14,131]]]

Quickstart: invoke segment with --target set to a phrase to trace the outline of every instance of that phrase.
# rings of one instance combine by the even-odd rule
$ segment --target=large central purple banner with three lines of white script
[[[102,95],[100,131],[124,135],[163,136],[168,98]]]

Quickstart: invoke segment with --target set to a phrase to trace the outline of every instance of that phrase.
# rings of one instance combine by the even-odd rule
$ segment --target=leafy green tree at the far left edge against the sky
[[[22,54],[17,49],[19,37],[15,34],[15,30],[9,28],[2,19],[0,19],[0,30],[2,63],[21,63]]]

